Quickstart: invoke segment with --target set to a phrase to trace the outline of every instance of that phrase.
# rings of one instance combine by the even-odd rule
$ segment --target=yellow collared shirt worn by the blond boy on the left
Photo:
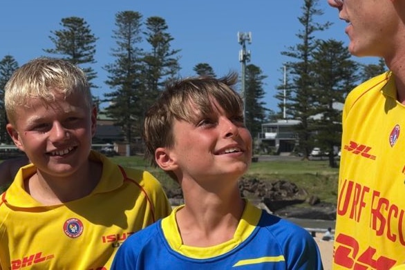
[[[93,151],[89,159],[102,162],[94,191],[53,206],[23,189],[35,166],[19,170],[0,195],[0,269],[110,269],[129,235],[169,215],[171,206],[153,175]]]

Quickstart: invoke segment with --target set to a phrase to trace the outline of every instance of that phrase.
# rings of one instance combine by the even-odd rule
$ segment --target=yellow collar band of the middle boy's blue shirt
[[[176,207],[169,217],[162,220],[162,230],[164,238],[166,238],[171,249],[189,258],[195,259],[212,258],[234,249],[251,235],[261,218],[261,210],[253,206],[251,202],[246,201],[245,210],[234,233],[234,238],[214,247],[209,247],[209,249],[205,247],[190,247],[182,244],[181,235],[176,222],[176,212],[182,207],[184,207],[184,205]]]

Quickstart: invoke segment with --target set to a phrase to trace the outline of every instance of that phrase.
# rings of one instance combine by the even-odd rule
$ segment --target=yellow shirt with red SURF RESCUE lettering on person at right
[[[395,77],[357,86],[343,108],[333,269],[405,263],[405,106]]]

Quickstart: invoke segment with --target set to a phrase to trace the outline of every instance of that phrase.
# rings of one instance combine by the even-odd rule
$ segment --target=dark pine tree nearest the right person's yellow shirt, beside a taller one
[[[320,41],[312,53],[314,59],[314,91],[317,102],[314,108],[314,139],[329,157],[329,164],[335,167],[335,152],[341,145],[341,110],[344,99],[359,80],[359,64],[343,42],[330,39]]]

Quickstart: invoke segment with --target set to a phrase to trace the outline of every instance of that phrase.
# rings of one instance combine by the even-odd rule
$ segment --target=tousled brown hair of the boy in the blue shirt
[[[243,101],[233,89],[237,79],[236,73],[229,73],[220,79],[207,76],[189,77],[167,84],[144,119],[143,139],[147,146],[145,158],[151,165],[158,166],[155,160],[158,147],[170,148],[174,144],[173,120],[195,123],[198,117],[210,115],[211,99],[215,99],[229,115],[242,118]],[[194,108],[200,115],[196,115]]]

